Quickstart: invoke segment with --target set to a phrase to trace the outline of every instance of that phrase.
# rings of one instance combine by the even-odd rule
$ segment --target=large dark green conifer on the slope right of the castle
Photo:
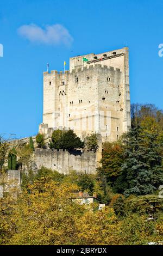
[[[160,182],[163,182],[162,157],[156,136],[143,132],[138,125],[123,137],[123,142],[125,160],[122,175],[128,184],[124,194],[154,193]]]

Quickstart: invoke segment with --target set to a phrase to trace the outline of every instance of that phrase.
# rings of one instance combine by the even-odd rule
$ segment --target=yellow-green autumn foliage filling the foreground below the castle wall
[[[12,188],[15,193],[0,199],[0,244],[146,245],[162,241],[159,198],[124,199],[116,194],[104,210],[97,210],[96,204],[80,205],[73,200],[73,192],[83,186],[83,175],[41,168],[36,175],[24,176],[17,198]],[[88,191],[97,188],[96,175],[86,176],[86,180]],[[151,202],[156,200],[157,217],[148,221]]]

